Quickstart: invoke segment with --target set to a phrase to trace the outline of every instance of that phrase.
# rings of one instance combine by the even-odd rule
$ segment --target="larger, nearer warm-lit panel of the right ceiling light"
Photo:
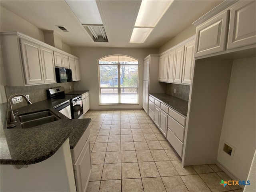
[[[173,0],[142,0],[135,26],[155,27]]]

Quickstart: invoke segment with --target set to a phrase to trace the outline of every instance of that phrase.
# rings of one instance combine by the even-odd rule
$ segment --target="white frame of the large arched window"
[[[102,59],[104,59],[104,58],[108,58],[108,57],[111,57],[111,56],[118,56],[118,63],[117,64],[100,64],[100,60],[102,60]],[[134,61],[138,61],[138,64],[120,64],[120,60],[119,60],[119,56],[124,56],[124,57],[128,57],[128,58],[132,58]],[[122,61],[121,61],[122,62]],[[117,66],[117,73],[118,73],[118,75],[117,75],[117,77],[118,77],[118,87],[111,87],[111,89],[113,88],[113,89],[117,89],[117,96],[118,96],[118,102],[117,103],[102,103],[102,101],[101,101],[101,94],[102,94],[102,90],[104,90],[104,89],[110,89],[109,87],[106,87],[106,88],[104,88],[104,87],[101,87],[101,81],[100,81],[100,66]],[[121,80],[121,70],[120,70],[120,68],[121,68],[121,66],[137,66],[137,86],[136,87],[121,87],[121,82],[120,82],[120,80]],[[99,80],[99,105],[126,105],[126,104],[139,104],[139,66],[140,66],[140,62],[139,62],[139,60],[138,59],[136,59],[136,58],[134,58],[134,57],[131,57],[131,56],[128,56],[128,55],[122,55],[122,54],[115,54],[115,55],[108,55],[108,56],[104,56],[104,57],[102,57],[102,58],[100,58],[100,59],[98,59],[98,80]],[[137,102],[133,102],[133,103],[122,103],[121,102],[121,94],[122,94],[122,92],[121,92],[121,90],[122,89],[137,89],[137,98],[136,98],[136,100],[137,100]]]

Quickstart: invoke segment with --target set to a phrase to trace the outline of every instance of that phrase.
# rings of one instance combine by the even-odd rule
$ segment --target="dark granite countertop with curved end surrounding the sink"
[[[35,164],[52,156],[69,138],[70,149],[73,149],[84,131],[88,128],[91,119],[69,119],[62,115],[53,106],[65,102],[60,100],[44,100],[32,105],[17,109],[17,126],[7,129],[6,110],[7,104],[1,104],[0,127],[0,157],[1,164]],[[19,114],[50,110],[60,120],[22,129],[18,120]],[[16,111],[16,110],[14,110]]]

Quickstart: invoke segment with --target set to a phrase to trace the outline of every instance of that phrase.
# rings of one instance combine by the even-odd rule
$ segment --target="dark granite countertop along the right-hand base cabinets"
[[[182,100],[180,98],[174,97],[168,94],[150,93],[154,98],[162,101],[164,104],[173,108],[180,114],[187,116],[188,113],[188,101]]]

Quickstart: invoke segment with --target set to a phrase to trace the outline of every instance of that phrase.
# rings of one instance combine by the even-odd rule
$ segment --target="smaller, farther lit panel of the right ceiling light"
[[[133,28],[130,43],[144,43],[153,28]]]

